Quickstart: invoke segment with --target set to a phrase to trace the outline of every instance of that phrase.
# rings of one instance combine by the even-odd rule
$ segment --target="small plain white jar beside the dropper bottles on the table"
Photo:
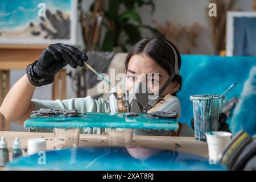
[[[27,154],[36,154],[39,151],[46,151],[46,139],[30,138],[27,140]]]

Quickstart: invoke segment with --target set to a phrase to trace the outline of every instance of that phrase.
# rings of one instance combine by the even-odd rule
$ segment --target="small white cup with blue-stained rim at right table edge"
[[[225,131],[210,131],[205,133],[207,137],[209,158],[217,161],[220,154],[231,140],[232,133]]]

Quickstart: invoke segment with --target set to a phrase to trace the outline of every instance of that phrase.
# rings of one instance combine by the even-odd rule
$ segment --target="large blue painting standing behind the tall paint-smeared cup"
[[[190,96],[197,94],[222,94],[231,84],[237,86],[225,95],[223,106],[238,98],[238,104],[230,107],[227,123],[230,131],[243,129],[256,134],[256,57],[182,55],[180,75],[182,88],[177,92],[181,105],[179,122],[191,126],[193,105]],[[246,84],[245,84],[246,82]],[[223,110],[222,110],[223,111]]]

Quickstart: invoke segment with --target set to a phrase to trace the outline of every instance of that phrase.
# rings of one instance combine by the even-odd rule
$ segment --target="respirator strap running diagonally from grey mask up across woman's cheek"
[[[156,98],[151,99],[148,104],[143,108],[143,113],[147,113],[148,110],[152,109],[160,100],[163,100],[161,95],[163,94],[164,90],[166,90],[167,86],[172,82],[174,76],[176,75],[175,72],[168,78],[162,89],[160,89],[158,96]]]

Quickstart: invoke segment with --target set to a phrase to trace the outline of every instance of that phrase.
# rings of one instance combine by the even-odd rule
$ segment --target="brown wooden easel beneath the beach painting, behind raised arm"
[[[10,70],[26,69],[28,64],[38,60],[47,45],[0,44],[0,105],[10,89]],[[59,88],[61,81],[61,89]],[[61,93],[60,93],[61,91]],[[52,99],[66,99],[66,71],[57,73],[52,86]],[[9,122],[0,114],[0,131],[9,131]]]

